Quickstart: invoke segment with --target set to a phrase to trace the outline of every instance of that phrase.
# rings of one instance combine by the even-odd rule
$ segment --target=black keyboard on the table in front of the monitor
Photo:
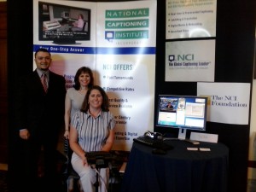
[[[134,138],[133,141],[136,143],[147,145],[151,148],[160,148],[163,150],[171,150],[173,148],[172,145],[165,143],[163,140],[154,139],[147,136],[140,136],[140,137]]]

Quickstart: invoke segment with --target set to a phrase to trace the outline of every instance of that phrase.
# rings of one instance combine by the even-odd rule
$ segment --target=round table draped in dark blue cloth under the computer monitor
[[[193,145],[167,141],[173,149],[152,154],[152,148],[133,143],[121,192],[226,192],[229,149],[222,143]],[[189,151],[187,148],[210,148]]]

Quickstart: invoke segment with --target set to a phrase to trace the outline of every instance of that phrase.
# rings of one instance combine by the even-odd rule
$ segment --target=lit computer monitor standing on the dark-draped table
[[[206,131],[207,97],[160,95],[155,117],[154,131],[179,129],[178,138],[186,139],[187,130]]]

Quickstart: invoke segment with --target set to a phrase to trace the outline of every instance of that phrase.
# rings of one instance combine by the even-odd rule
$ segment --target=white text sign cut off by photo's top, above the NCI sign
[[[166,0],[166,39],[216,37],[217,0]]]

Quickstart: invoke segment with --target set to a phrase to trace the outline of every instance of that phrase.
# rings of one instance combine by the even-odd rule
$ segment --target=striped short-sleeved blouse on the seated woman
[[[101,112],[94,118],[89,112],[74,113],[71,124],[79,135],[79,145],[84,151],[100,151],[106,143],[109,131],[113,129],[115,121],[113,114]]]

